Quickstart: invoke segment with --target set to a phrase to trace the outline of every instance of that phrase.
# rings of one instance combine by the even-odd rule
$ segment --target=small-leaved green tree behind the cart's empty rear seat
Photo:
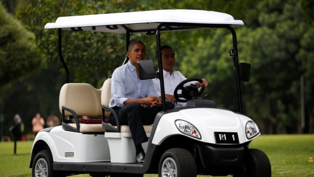
[[[48,60],[59,63],[56,30],[44,29],[45,24],[61,16],[123,12],[130,10],[129,5],[134,6],[131,1],[45,0],[29,3],[17,16],[36,33],[36,43],[48,54]],[[124,34],[62,30],[63,57],[70,68],[71,81],[101,87],[113,68],[121,65],[125,58],[124,41]]]

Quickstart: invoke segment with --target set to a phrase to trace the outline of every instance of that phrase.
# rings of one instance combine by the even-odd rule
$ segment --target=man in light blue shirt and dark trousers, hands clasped
[[[129,61],[116,68],[111,77],[111,99],[109,107],[113,108],[121,125],[129,125],[135,145],[135,162],[144,163],[145,153],[142,143],[148,141],[143,125],[151,125],[158,112],[161,111],[160,98],[152,79],[140,80],[137,62],[146,57],[146,47],[141,41],[134,41],[127,52]],[[171,102],[165,109],[173,109]],[[109,122],[116,125],[112,114]]]

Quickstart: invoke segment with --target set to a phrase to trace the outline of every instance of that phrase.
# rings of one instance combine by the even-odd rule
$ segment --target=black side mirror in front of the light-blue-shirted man
[[[140,80],[155,79],[157,77],[157,72],[155,72],[153,60],[141,60],[138,61],[137,64]]]

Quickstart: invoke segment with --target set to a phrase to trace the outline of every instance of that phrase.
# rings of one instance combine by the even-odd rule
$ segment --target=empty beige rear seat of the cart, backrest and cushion
[[[100,116],[101,89],[90,84],[67,83],[62,86],[59,95],[59,109],[62,113],[62,127],[76,132],[105,132],[102,123],[79,123],[78,116]],[[75,123],[66,121],[66,117],[73,117]]]

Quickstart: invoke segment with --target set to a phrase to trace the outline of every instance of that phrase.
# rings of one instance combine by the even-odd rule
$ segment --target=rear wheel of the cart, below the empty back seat
[[[61,172],[53,171],[52,155],[47,149],[36,154],[31,174],[32,177],[64,177]]]

